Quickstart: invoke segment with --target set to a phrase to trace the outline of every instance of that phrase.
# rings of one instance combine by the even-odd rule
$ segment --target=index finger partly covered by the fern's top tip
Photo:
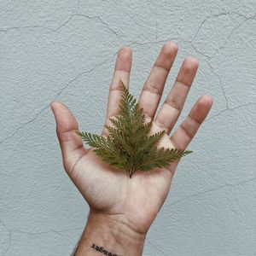
[[[114,66],[113,79],[109,87],[107,119],[119,113],[119,100],[122,93],[119,79],[124,82],[127,88],[129,87],[131,61],[131,49],[129,47],[119,49]]]

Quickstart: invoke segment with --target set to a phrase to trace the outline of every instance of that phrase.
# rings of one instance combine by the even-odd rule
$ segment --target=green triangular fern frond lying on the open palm
[[[125,170],[131,177],[137,170],[148,172],[155,167],[167,167],[192,152],[177,148],[157,148],[156,144],[165,135],[165,131],[148,136],[152,121],[146,122],[143,108],[139,108],[136,98],[129,93],[121,79],[120,84],[122,95],[119,115],[109,119],[112,125],[105,125],[108,137],[77,131],[102,160],[110,166]]]

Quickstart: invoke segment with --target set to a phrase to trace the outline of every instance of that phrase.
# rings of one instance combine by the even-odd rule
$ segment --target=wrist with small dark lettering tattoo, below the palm
[[[119,218],[90,212],[74,255],[142,255],[145,238]]]

